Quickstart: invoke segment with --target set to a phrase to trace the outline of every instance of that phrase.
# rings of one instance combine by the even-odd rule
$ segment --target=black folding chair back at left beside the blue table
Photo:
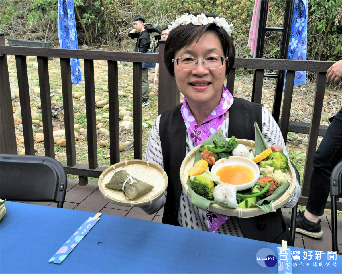
[[[0,154],[0,198],[56,202],[63,207],[67,177],[63,166],[48,156]]]

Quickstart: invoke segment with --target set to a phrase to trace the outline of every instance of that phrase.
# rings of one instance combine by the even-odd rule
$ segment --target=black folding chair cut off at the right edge
[[[332,250],[338,251],[337,247],[337,212],[336,198],[342,197],[342,162],[339,162],[330,175],[330,197],[331,197],[331,240]]]

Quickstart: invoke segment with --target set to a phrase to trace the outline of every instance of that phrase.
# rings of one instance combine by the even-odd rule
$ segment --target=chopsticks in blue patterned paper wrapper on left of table
[[[93,218],[89,217],[78,230],[65,242],[65,244],[51,257],[48,263],[60,264],[69,255],[71,251],[77,246],[77,244],[87,235],[92,227],[100,220],[98,217],[102,213],[97,213]]]

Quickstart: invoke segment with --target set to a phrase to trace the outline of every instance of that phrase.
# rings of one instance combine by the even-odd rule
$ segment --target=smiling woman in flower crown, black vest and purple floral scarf
[[[205,231],[211,231],[209,220],[223,219],[216,230],[218,233],[274,243],[287,240],[291,245],[291,235],[280,209],[251,218],[229,218],[193,206],[182,189],[179,171],[185,155],[219,128],[226,138],[255,140],[254,122],[257,122],[267,145],[274,145],[274,150],[282,146],[285,154],[287,151],[280,129],[268,110],[260,104],[233,97],[224,86],[235,60],[231,25],[224,18],[186,14],[169,27],[164,61],[184,95],[184,102],[163,112],[151,130],[145,160],[163,167],[169,185],[166,195],[142,209],[152,214],[164,206],[162,223]],[[293,207],[299,195],[297,184],[285,206]]]

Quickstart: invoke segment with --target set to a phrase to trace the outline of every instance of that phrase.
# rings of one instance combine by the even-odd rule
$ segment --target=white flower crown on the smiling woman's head
[[[216,18],[214,17],[207,17],[205,14],[199,14],[197,16],[195,15],[188,15],[187,13],[182,15],[181,17],[177,17],[176,20],[171,22],[171,25],[168,25],[169,31],[171,29],[174,29],[175,27],[179,25],[187,25],[187,24],[193,24],[193,25],[207,25],[209,23],[215,23],[219,27],[224,28],[227,32],[228,35],[230,36],[232,34],[231,26],[233,26],[233,23],[228,24],[226,22],[226,18],[220,18],[217,16]]]

